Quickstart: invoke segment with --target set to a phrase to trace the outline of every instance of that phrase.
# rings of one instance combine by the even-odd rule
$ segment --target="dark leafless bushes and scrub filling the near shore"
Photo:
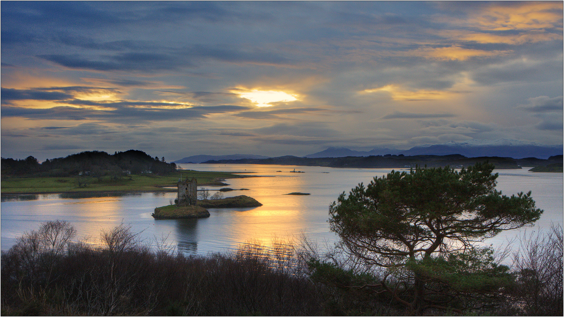
[[[413,314],[378,290],[382,281],[396,290],[409,285],[413,271],[320,254],[306,240],[300,247],[245,244],[228,254],[187,257],[164,246],[150,250],[123,224],[102,232],[98,248],[75,236],[68,222],[46,222],[2,252],[2,315]],[[457,294],[474,301],[462,313],[561,316],[562,228],[523,239],[505,278],[495,296]],[[403,288],[403,298],[411,292]]]

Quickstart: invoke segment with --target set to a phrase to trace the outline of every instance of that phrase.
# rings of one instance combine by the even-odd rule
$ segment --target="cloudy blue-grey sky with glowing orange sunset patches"
[[[562,144],[562,1],[0,5],[2,157]]]

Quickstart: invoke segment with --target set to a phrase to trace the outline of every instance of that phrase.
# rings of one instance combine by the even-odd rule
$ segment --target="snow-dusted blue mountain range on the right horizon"
[[[519,140],[499,139],[467,140],[464,142],[447,142],[443,144],[425,144],[402,151],[400,154],[410,155],[451,155],[460,154],[466,157],[498,156],[525,158],[536,157],[546,159],[554,155],[562,155],[563,147],[559,145],[546,145],[540,143],[527,143]]]

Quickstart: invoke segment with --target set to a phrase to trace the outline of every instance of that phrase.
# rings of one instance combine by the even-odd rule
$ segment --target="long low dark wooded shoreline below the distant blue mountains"
[[[510,157],[484,156],[465,157],[454,155],[372,155],[372,156],[347,156],[347,157],[297,157],[280,156],[271,158],[244,158],[242,160],[217,160],[206,161],[206,164],[276,164],[276,165],[302,165],[302,166],[328,166],[333,168],[409,168],[419,166],[438,167],[474,165],[477,162],[489,161],[497,169],[520,169],[521,166],[544,166],[557,161],[562,161],[562,155],[551,156],[548,160],[540,158],[514,159]]]

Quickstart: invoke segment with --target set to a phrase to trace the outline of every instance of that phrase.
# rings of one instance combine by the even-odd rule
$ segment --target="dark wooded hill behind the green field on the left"
[[[155,173],[166,174],[175,171],[174,163],[167,163],[164,157],[151,157],[143,151],[130,149],[125,152],[115,152],[110,155],[103,151],[87,151],[72,154],[67,157],[52,158],[39,163],[33,156],[25,160],[2,158],[2,176],[19,177],[64,177],[89,172],[90,175]]]

